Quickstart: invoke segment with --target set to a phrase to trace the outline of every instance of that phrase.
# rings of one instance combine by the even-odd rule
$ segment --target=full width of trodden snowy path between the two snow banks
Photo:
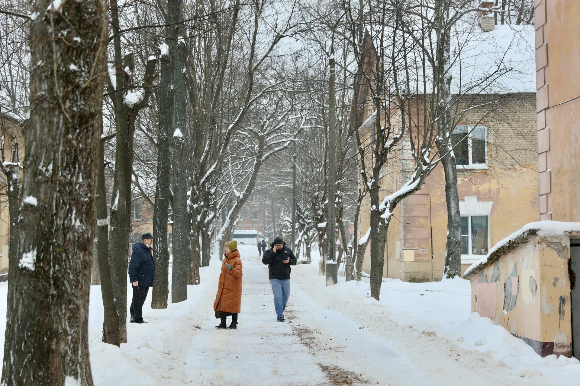
[[[456,355],[465,352],[456,354],[448,344],[425,341],[434,346],[429,350],[416,341],[388,340],[400,329],[396,323],[389,334],[360,329],[359,321],[315,303],[296,282],[292,282],[286,322],[280,323],[267,266],[248,255],[242,257],[244,292],[238,329],[217,330],[218,319],[211,317],[191,341],[186,378],[194,384],[447,385],[462,379],[487,385],[521,380],[508,371],[498,372],[509,370],[503,365],[490,366],[484,360],[459,363]],[[485,355],[474,352],[469,359],[478,356]]]

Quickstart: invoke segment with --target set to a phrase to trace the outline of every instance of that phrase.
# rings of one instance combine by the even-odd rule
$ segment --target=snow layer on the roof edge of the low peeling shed
[[[499,259],[500,254],[497,253],[499,249],[509,248],[513,249],[520,245],[522,242],[527,241],[528,237],[531,236],[563,236],[570,232],[580,232],[580,222],[561,222],[561,221],[535,221],[527,223],[520,230],[515,231],[510,234],[502,241],[498,242],[490,249],[488,253],[483,258],[477,260],[473,263],[465,273],[463,278],[467,279],[487,267],[490,263],[495,262]]]

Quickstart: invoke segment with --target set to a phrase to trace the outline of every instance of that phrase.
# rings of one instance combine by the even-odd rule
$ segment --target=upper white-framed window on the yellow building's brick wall
[[[457,126],[451,134],[451,143],[459,167],[488,167],[486,126]]]

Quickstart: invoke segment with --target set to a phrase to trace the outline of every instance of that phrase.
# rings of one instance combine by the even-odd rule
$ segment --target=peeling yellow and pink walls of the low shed
[[[534,236],[474,275],[472,310],[538,354],[571,356],[568,236]]]

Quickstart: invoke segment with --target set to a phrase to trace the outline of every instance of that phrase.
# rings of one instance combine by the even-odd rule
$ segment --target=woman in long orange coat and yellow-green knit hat
[[[218,329],[226,328],[226,317],[231,315],[231,324],[227,329],[235,329],[238,324],[238,313],[242,302],[242,260],[238,251],[238,242],[226,242],[226,251],[222,262],[222,273],[219,275],[218,294],[213,302],[216,318],[222,322]]]

